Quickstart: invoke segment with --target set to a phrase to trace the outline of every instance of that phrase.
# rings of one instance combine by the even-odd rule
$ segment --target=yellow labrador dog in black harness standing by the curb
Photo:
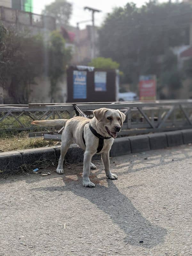
[[[125,115],[119,110],[99,108],[93,111],[94,117],[90,120],[85,117],[76,116],[71,119],[56,119],[33,121],[38,125],[62,125],[61,155],[57,167],[57,173],[63,174],[63,161],[71,143],[76,143],[84,152],[84,187],[95,187],[90,181],[90,168],[96,169],[91,163],[94,154],[101,154],[106,176],[109,179],[117,179],[117,175],[110,171],[109,150],[113,144],[113,138],[117,137],[125,120]]]

